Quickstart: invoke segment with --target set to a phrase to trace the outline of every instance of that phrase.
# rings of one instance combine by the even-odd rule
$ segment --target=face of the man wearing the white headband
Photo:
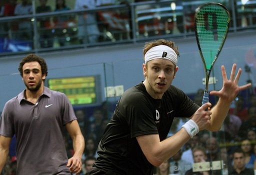
[[[147,92],[153,98],[161,98],[170,86],[176,71],[177,67],[168,59],[152,59],[147,65],[143,64]]]

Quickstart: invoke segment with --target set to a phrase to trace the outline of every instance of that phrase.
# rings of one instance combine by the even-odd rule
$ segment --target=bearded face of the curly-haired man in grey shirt
[[[22,66],[22,79],[27,90],[37,91],[43,84],[45,75],[42,75],[41,66],[37,61],[26,62]]]

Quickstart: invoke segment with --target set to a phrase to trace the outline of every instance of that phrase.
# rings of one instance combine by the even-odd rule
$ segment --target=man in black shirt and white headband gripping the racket
[[[220,128],[229,105],[239,90],[241,69],[236,65],[227,79],[221,67],[223,86],[211,95],[219,96],[217,104],[201,107],[171,85],[177,67],[177,48],[172,41],[159,39],[146,43],[144,81],[127,89],[120,97],[112,118],[98,145],[98,158],[88,174],[153,174],[153,166],[175,154],[199,130]],[[208,110],[205,110],[208,109]],[[174,117],[189,117],[182,128],[166,138]]]

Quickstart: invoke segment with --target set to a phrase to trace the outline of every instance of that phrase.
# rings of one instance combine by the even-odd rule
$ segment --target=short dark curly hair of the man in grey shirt
[[[18,71],[20,73],[20,76],[23,75],[22,67],[23,67],[24,63],[32,62],[32,61],[38,62],[41,66],[42,75],[47,76],[48,71],[47,71],[47,64],[46,64],[45,60],[43,58],[41,58],[40,56],[37,56],[36,54],[32,54],[32,53],[23,57],[22,60],[19,62]]]

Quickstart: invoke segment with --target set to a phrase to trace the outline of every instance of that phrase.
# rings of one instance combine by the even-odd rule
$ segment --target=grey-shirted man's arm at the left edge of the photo
[[[0,135],[0,173],[7,159],[11,137]]]

